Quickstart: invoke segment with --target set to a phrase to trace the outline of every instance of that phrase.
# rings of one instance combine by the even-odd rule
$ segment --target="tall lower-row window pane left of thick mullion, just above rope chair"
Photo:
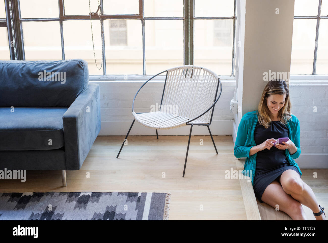
[[[183,21],[145,21],[146,74],[183,65]]]

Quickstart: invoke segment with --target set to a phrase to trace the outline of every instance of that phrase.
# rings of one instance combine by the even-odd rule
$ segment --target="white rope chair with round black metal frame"
[[[134,100],[140,89],[154,77],[165,72],[166,78],[159,110],[154,112],[135,113],[133,107]],[[216,98],[219,84],[220,93]],[[218,75],[207,68],[184,65],[170,68],[154,75],[141,85],[134,96],[132,102],[132,115],[134,120],[116,158],[118,158],[121,153],[134,121],[138,121],[146,127],[156,129],[157,139],[157,129],[170,129],[191,125],[182,175],[182,177],[184,177],[193,125],[207,126],[216,154],[218,154],[209,125],[212,122],[215,103],[219,100],[221,92],[222,84]]]

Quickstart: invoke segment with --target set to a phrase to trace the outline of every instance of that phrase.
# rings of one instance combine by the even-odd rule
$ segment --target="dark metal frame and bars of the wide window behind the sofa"
[[[234,16],[231,17],[195,17],[194,2],[195,0],[183,0],[183,17],[145,17],[144,16],[144,0],[138,0],[139,13],[138,14],[119,14],[110,15],[103,14],[103,0],[100,0],[100,21],[103,28],[103,21],[106,19],[139,19],[142,24],[142,49],[143,49],[143,75],[128,75],[129,80],[143,80],[148,76],[146,75],[146,57],[145,57],[145,21],[146,20],[182,20],[183,21],[183,37],[184,37],[184,51],[183,51],[183,65],[193,65],[194,63],[194,20],[195,19],[232,19],[233,20],[233,47],[232,47],[232,62],[231,62],[231,76],[219,75],[227,77],[228,79],[234,78],[233,59],[235,54],[235,32],[236,32],[236,4],[234,1]],[[62,60],[65,60],[65,46],[63,37],[63,21],[66,20],[90,20],[90,15],[65,15],[64,0],[58,0],[58,16],[57,18],[22,18],[20,14],[19,0],[5,0],[6,8],[6,22],[0,19],[1,25],[6,25],[8,29],[9,43],[14,42],[10,46],[10,59],[11,60],[25,60],[24,40],[23,40],[23,22],[36,22],[36,21],[58,21],[60,25],[60,38],[62,49]],[[10,15],[11,13],[11,15]],[[11,17],[10,17],[11,16]],[[99,20],[99,16],[91,16],[91,19]],[[13,30],[13,31],[12,31]],[[103,43],[105,43],[103,35]],[[103,75],[90,75],[90,80],[122,80],[126,75],[110,75],[106,73],[106,56],[105,45],[103,47]],[[158,79],[161,79],[158,77]]]

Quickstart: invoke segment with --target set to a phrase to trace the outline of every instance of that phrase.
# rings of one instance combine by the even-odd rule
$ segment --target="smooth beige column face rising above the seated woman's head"
[[[245,19],[242,115],[257,110],[263,72],[290,71],[294,1],[248,0]]]

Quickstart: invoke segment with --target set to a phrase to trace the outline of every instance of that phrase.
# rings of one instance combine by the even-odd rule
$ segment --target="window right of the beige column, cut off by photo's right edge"
[[[328,74],[328,0],[295,0],[291,74]]]

